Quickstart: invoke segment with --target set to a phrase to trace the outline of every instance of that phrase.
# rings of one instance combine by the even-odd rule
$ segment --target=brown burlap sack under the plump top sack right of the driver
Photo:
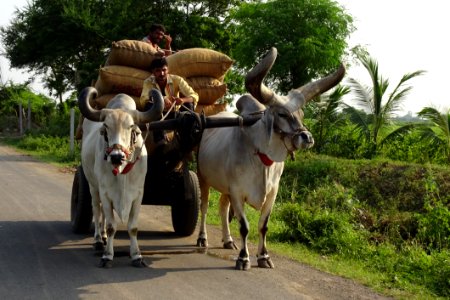
[[[227,92],[227,85],[213,77],[189,77],[186,81],[197,92],[198,104],[213,104]]]

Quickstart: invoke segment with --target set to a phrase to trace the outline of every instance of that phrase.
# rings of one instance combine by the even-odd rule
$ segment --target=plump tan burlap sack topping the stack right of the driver
[[[167,57],[169,72],[184,78],[209,76],[223,78],[233,64],[227,55],[206,48],[184,49]]]

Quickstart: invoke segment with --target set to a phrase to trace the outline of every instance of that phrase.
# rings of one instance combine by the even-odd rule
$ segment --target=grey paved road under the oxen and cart
[[[276,269],[236,271],[237,251],[220,248],[217,228],[209,229],[212,247],[200,252],[196,234],[173,234],[164,206],[143,206],[140,216],[148,268],[130,265],[124,226],[114,267],[98,268],[92,237],[70,229],[72,179],[0,144],[1,299],[385,299],[278,256]]]

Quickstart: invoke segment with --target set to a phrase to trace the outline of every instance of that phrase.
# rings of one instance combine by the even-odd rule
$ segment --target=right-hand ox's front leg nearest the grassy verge
[[[271,193],[267,197],[267,201],[264,203],[261,209],[261,216],[259,217],[258,222],[258,232],[259,232],[259,243],[258,243],[258,267],[260,268],[274,268],[275,265],[272,262],[272,259],[269,256],[266,247],[266,236],[268,231],[268,223],[270,214],[272,212],[273,203],[275,202],[276,192],[275,194]]]

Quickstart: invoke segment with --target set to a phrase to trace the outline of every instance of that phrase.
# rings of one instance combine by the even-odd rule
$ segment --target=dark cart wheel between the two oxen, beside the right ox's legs
[[[190,171],[185,172],[185,190],[182,196],[185,199],[178,199],[172,204],[172,225],[175,233],[180,236],[189,236],[195,231],[198,219],[200,184],[197,174]]]

